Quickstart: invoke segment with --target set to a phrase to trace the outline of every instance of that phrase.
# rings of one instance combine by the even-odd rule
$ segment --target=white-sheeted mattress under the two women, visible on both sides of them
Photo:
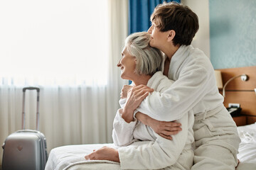
[[[236,170],[256,169],[256,123],[238,127],[241,138],[238,159],[240,164]],[[52,149],[49,154],[46,170],[78,170],[78,169],[120,169],[117,162],[110,161],[86,161],[85,155],[90,154],[93,149],[113,144],[97,145],[68,145]]]

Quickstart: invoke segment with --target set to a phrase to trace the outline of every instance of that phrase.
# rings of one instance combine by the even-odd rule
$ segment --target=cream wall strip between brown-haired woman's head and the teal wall
[[[199,19],[199,30],[192,42],[193,47],[203,50],[210,58],[209,0],[181,0],[181,4],[191,8]]]

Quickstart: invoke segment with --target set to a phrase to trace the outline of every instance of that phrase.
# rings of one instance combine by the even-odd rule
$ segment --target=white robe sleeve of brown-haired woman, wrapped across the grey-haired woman
[[[178,73],[178,79],[164,92],[154,91],[142,101],[137,111],[161,121],[178,120],[213,88],[215,77],[210,64],[203,61],[186,63]],[[206,67],[209,68],[206,69]],[[212,75],[211,75],[212,74]],[[169,80],[171,81],[171,80]]]

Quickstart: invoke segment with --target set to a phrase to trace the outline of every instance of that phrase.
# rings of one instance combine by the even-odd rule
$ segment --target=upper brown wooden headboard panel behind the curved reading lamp
[[[250,90],[256,88],[256,66],[252,67],[238,67],[231,69],[218,69],[221,71],[221,77],[223,79],[223,86],[232,77],[240,74],[247,74],[249,76],[248,81],[242,81],[240,78],[233,79],[226,86],[225,90]]]

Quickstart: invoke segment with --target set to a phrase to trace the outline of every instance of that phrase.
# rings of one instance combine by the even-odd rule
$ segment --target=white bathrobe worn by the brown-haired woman
[[[192,169],[235,169],[240,138],[223,106],[208,57],[192,45],[182,45],[171,58],[168,77],[174,84],[164,93],[154,91],[147,96],[137,111],[164,121],[193,111],[196,150]]]

